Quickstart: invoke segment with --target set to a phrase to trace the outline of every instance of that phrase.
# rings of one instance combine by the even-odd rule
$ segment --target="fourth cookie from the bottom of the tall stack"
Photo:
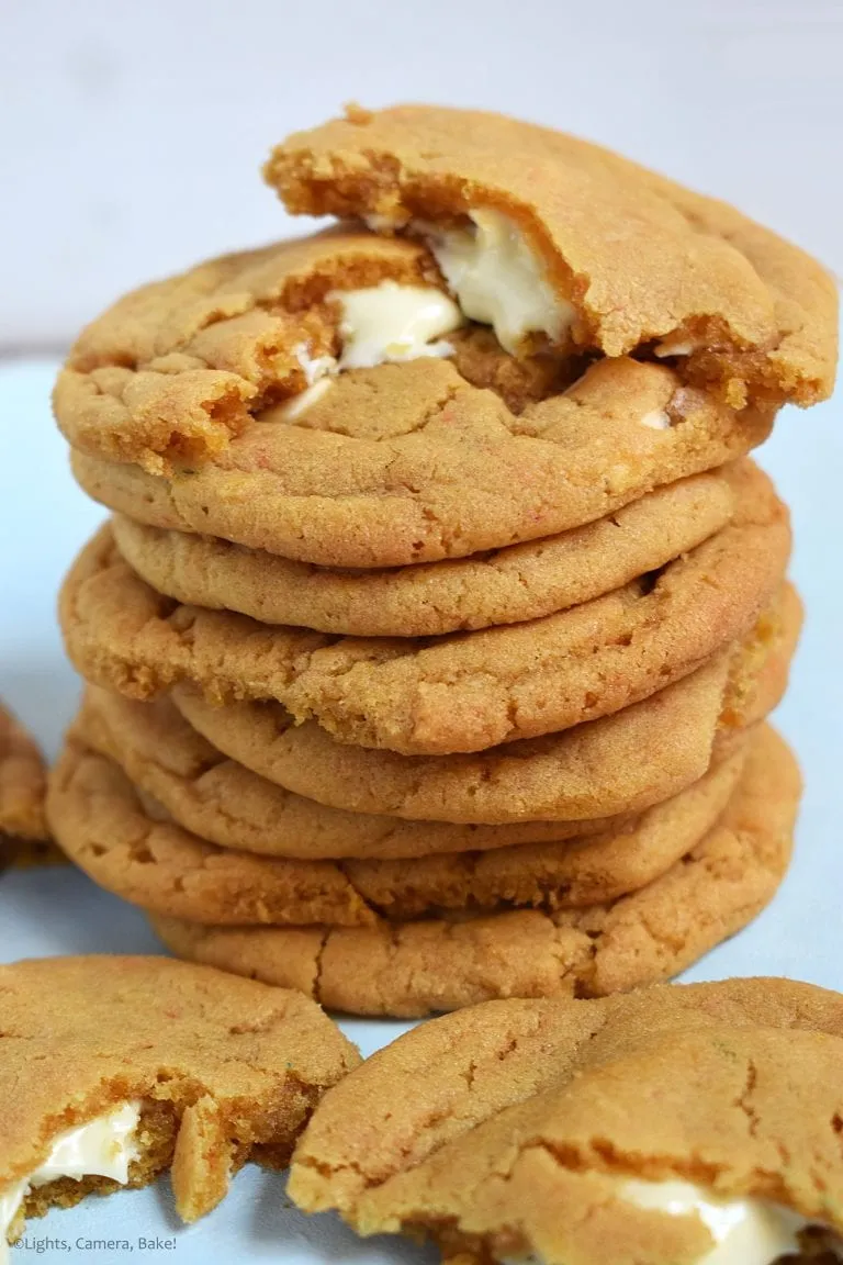
[[[409,820],[507,825],[638,812],[696,782],[732,735],[784,692],[801,610],[786,587],[739,651],[633,707],[479,755],[407,756],[337,743],[273,703],[173,702],[219,751],[334,808]]]

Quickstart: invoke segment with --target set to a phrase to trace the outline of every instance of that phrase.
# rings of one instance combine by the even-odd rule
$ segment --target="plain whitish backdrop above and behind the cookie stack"
[[[283,235],[257,168],[350,99],[591,137],[843,273],[843,0],[0,0],[0,352]]]

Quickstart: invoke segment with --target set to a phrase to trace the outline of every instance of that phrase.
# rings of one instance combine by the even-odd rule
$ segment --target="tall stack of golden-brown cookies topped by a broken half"
[[[356,1013],[674,975],[790,856],[747,454],[830,390],[832,281],[494,115],[354,109],[267,177],[343,223],[129,295],[56,388],[114,511],[57,839],[177,954]]]

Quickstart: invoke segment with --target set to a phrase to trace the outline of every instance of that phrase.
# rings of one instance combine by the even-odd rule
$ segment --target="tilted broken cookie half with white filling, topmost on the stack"
[[[289,137],[264,173],[288,211],[425,240],[466,314],[504,343],[610,357],[655,343],[686,381],[738,404],[832,391],[830,276],[724,202],[598,145],[475,110],[353,106]]]

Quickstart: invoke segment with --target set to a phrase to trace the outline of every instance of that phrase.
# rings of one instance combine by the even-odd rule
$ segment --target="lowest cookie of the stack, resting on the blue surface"
[[[154,917],[177,955],[301,988],[355,1015],[421,1016],[495,997],[599,997],[667,979],[746,926],[787,868],[800,793],[771,730],[719,824],[619,901],[375,927],[201,927]]]

